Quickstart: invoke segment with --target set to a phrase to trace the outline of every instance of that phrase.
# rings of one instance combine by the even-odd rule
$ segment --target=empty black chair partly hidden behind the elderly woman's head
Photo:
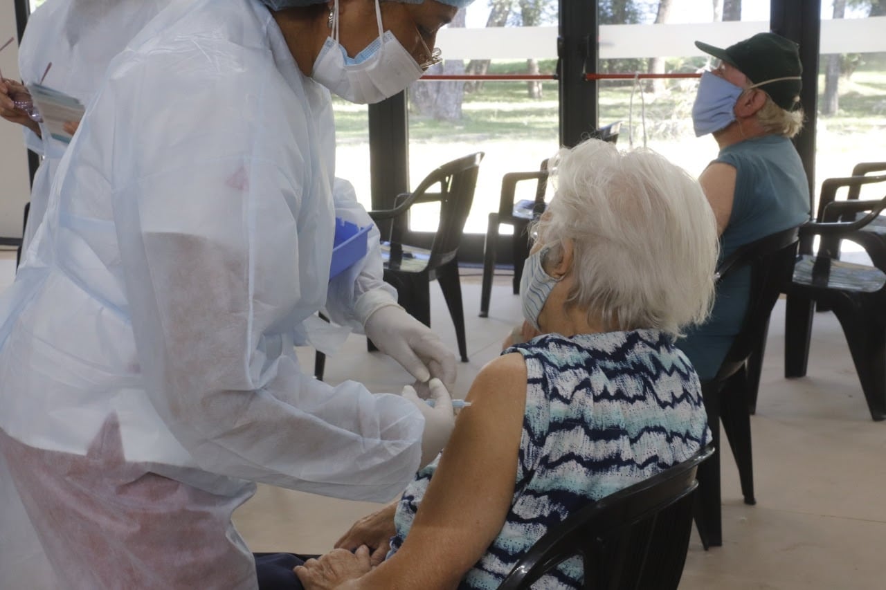
[[[604,142],[615,144],[621,121],[610,123],[597,129],[591,136]],[[532,201],[515,202],[517,183],[535,181],[535,198]],[[548,190],[548,160],[541,162],[535,172],[509,172],[501,178],[501,198],[497,212],[489,213],[489,224],[486,228],[486,241],[483,245],[483,284],[480,289],[480,317],[489,315],[489,299],[493,289],[495,273],[496,249],[500,241],[499,226],[502,223],[514,226],[514,235],[509,239],[514,260],[513,290],[520,292],[520,279],[523,276],[523,265],[529,255],[530,243],[527,228],[529,223],[537,219],[545,210],[545,193]]]

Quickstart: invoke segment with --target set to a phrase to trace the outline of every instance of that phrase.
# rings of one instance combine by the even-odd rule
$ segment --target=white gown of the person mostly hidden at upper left
[[[27,19],[19,46],[25,84],[40,82],[89,103],[111,59],[171,0],[46,0]],[[22,252],[43,220],[52,178],[67,144],[41,128],[43,139],[24,129],[25,145],[41,157],[31,188]]]

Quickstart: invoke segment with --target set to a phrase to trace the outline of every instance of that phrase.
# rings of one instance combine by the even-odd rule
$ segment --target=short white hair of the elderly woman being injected
[[[655,151],[590,139],[551,159],[556,194],[535,225],[543,244],[574,243],[568,305],[607,330],[674,337],[711,311],[717,222],[698,182]],[[556,169],[555,169],[556,168]]]

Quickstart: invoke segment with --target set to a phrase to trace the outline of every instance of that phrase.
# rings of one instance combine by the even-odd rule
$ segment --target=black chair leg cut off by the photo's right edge
[[[871,303],[875,305],[874,300]],[[849,344],[871,418],[886,418],[886,326],[877,322],[874,305],[835,305],[834,311]]]

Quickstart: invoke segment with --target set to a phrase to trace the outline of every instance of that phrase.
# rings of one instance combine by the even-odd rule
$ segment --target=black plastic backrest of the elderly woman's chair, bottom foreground
[[[500,590],[522,590],[575,555],[584,587],[606,590],[680,584],[692,528],[693,492],[706,446],[684,462],[626,487],[568,516],[510,571]]]

